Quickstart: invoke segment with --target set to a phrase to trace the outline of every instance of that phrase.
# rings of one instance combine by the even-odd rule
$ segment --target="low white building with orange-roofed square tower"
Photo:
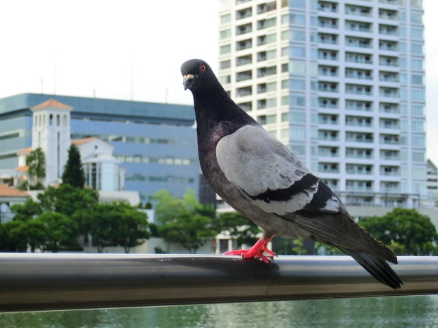
[[[62,182],[62,171],[68,159],[68,148],[74,144],[81,154],[86,176],[86,187],[99,190],[101,202],[140,203],[138,191],[125,191],[126,170],[113,156],[114,146],[97,137],[70,140],[70,111],[73,107],[56,100],[47,100],[31,108],[32,146],[18,151],[18,167],[0,169],[0,179],[17,186],[19,180],[31,181],[26,158],[32,150],[41,148],[45,157],[46,176],[40,181],[44,187]],[[36,198],[36,192],[30,192]]]

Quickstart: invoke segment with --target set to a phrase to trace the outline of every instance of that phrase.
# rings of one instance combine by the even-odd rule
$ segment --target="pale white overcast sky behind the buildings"
[[[216,70],[218,0],[1,1],[0,98],[23,92],[192,104],[179,67]],[[428,157],[438,164],[438,12],[425,1]],[[55,60],[56,58],[56,60]],[[133,88],[131,89],[131,64]],[[56,83],[54,83],[56,81]],[[166,91],[167,90],[167,91]]]

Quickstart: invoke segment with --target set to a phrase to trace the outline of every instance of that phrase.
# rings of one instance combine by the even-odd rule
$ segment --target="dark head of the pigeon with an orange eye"
[[[190,91],[201,90],[207,87],[211,82],[211,76],[215,79],[213,70],[209,64],[202,59],[190,59],[181,65],[181,74],[183,75],[184,90]]]

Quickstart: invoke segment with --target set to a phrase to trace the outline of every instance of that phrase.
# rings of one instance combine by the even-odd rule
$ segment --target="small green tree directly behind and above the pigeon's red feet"
[[[215,230],[228,231],[236,239],[237,247],[242,244],[253,245],[258,239],[257,234],[261,232],[257,224],[237,212],[221,213],[215,221]]]

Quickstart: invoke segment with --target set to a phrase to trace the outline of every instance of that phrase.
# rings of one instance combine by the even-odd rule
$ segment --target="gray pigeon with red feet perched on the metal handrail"
[[[274,236],[313,238],[354,258],[378,282],[400,289],[402,279],[386,262],[397,264],[396,254],[359,227],[327,184],[235,104],[207,62],[185,61],[181,74],[184,90],[193,95],[205,179],[263,230],[250,249],[225,254],[268,263],[276,255],[266,247]]]

